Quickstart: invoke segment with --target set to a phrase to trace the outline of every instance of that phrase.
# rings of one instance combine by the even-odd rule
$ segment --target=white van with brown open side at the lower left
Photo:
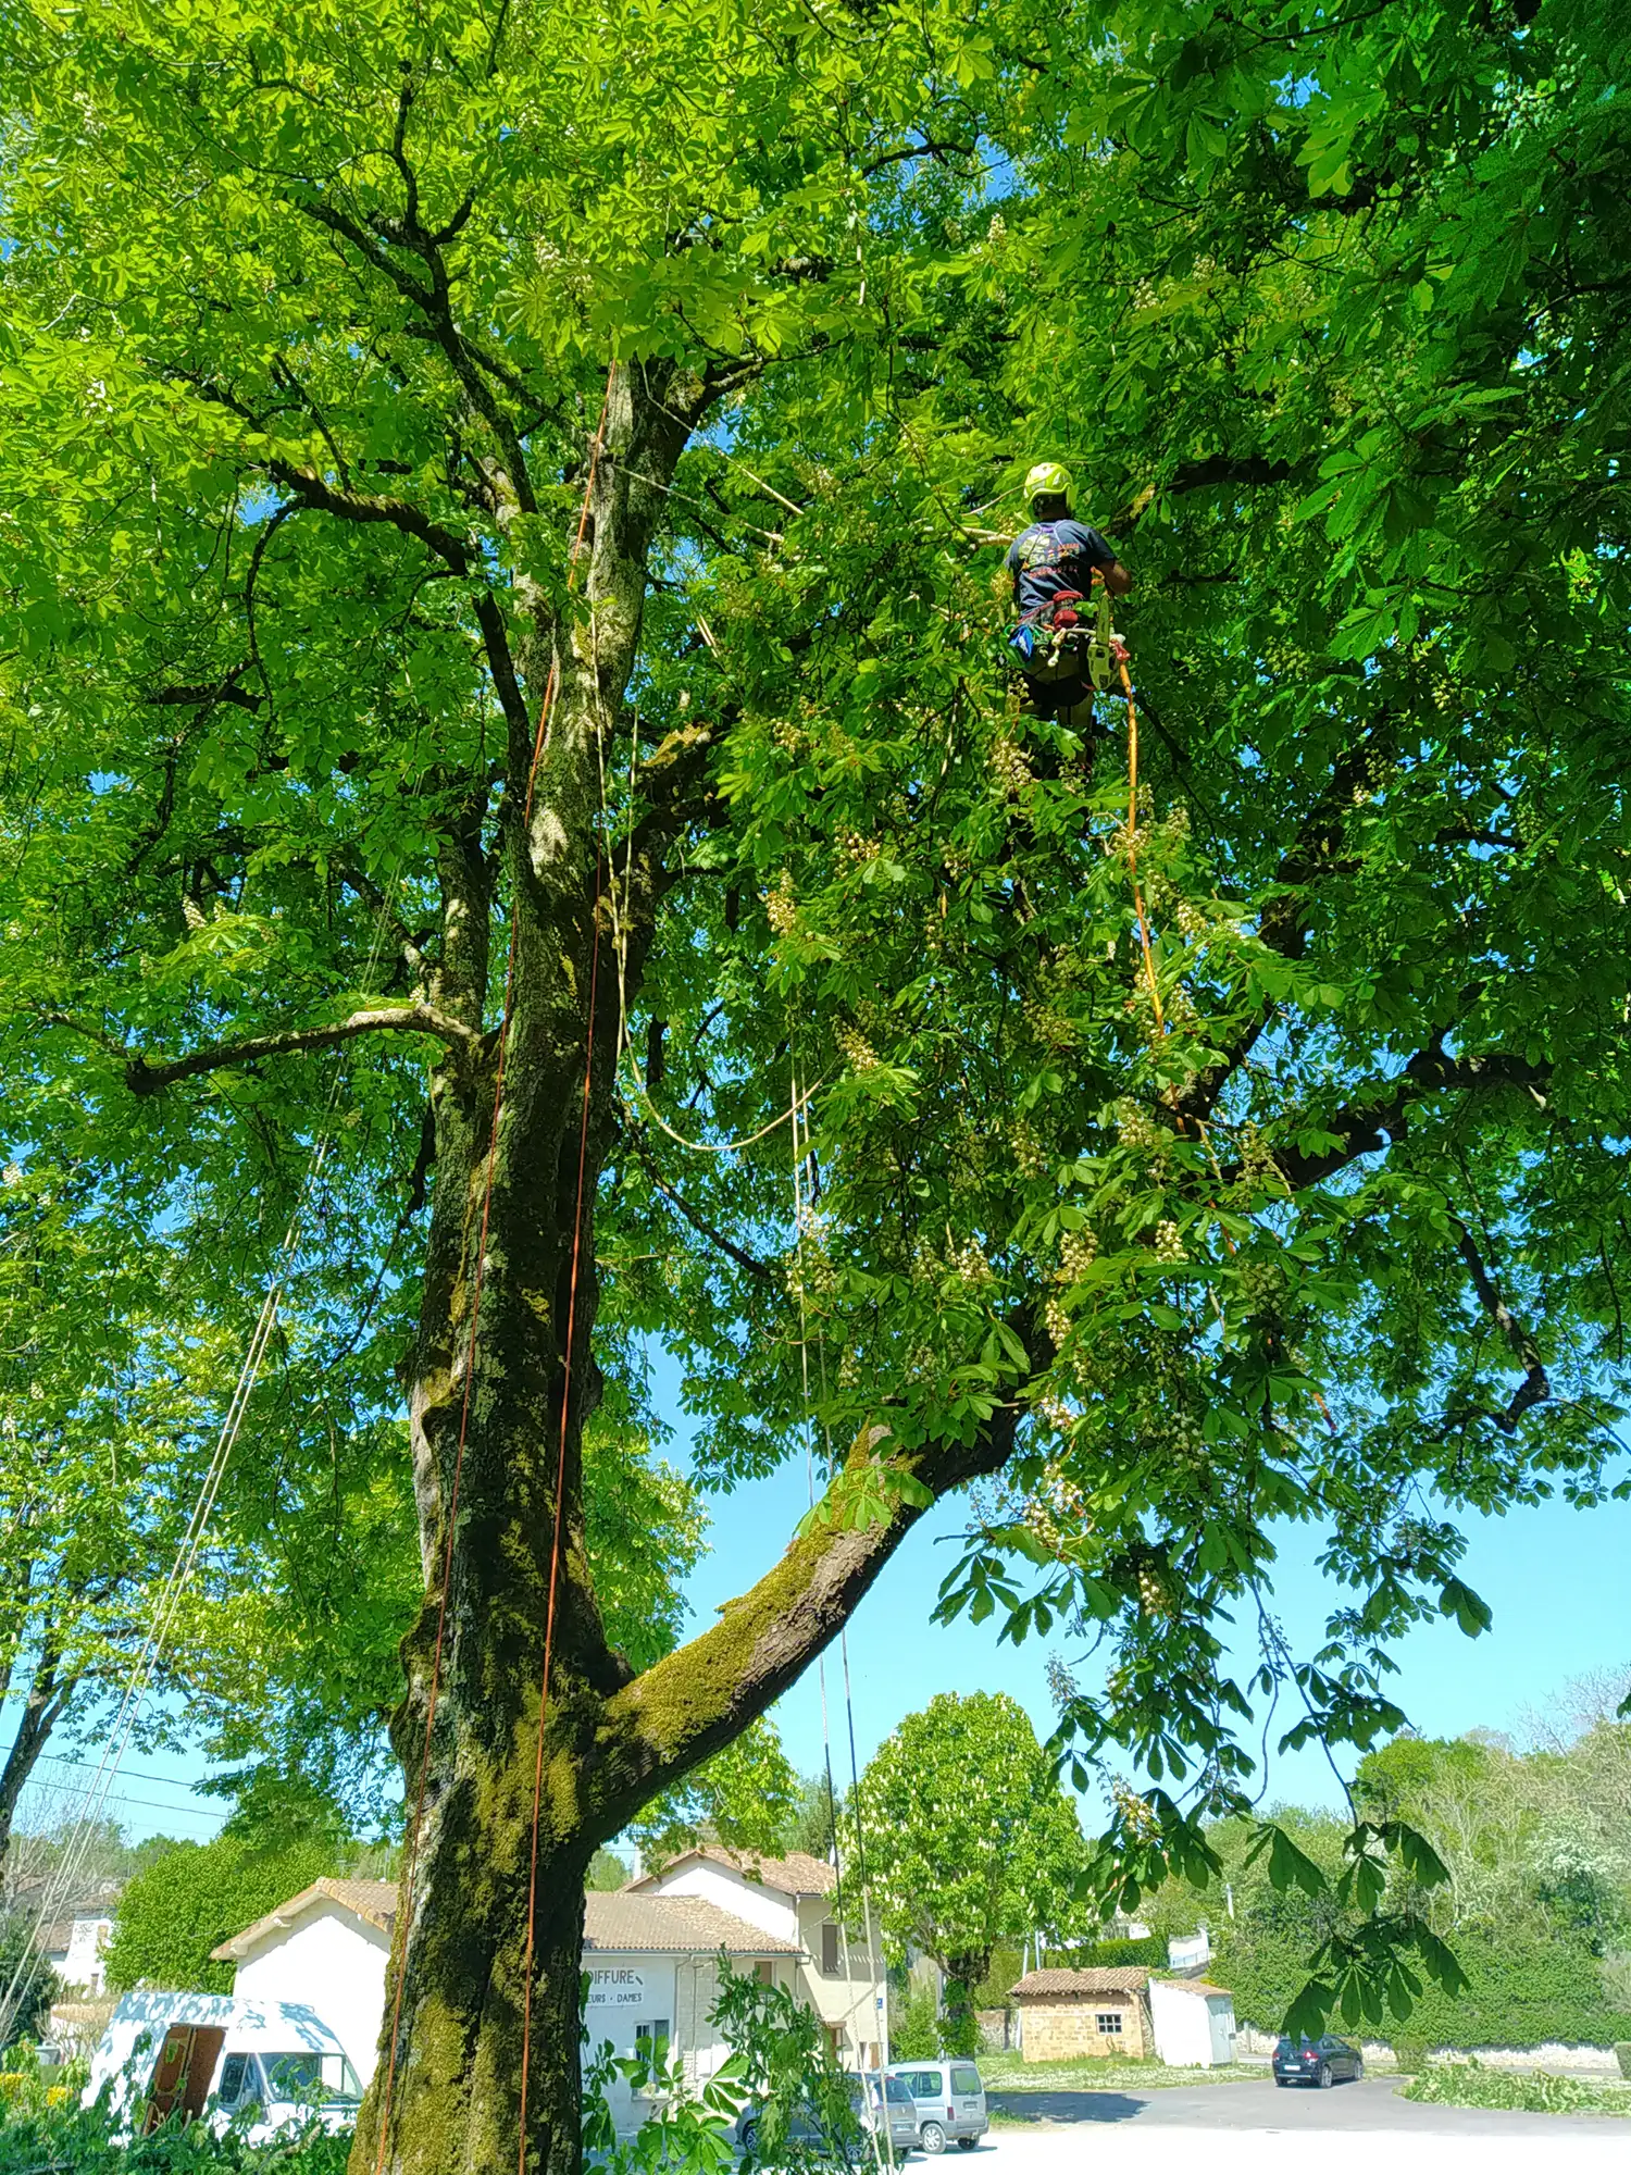
[[[348,2129],[363,2097],[346,2049],[304,2001],[170,1992],[120,1999],[83,2105],[104,2090],[120,2138],[180,2112],[217,2132],[237,2121],[250,2145],[309,2123]]]

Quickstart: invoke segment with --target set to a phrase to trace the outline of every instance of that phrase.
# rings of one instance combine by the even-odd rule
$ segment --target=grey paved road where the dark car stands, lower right
[[[989,2092],[994,2112],[1037,2121],[1037,2140],[1081,2123],[1146,2129],[1255,2129],[1290,2136],[1403,2134],[1437,2138],[1594,2138],[1618,2149],[1631,2171],[1631,2123],[1601,2114],[1503,2114],[1492,2108],[1418,2108],[1398,2099],[1394,2077],[1364,2077],[1329,2092],[1259,2084],[1179,2084],[1159,2092]],[[1042,2125],[1048,2125],[1046,2129]],[[994,2140],[1016,2132],[992,2132]],[[959,2153],[976,2162],[976,2153]],[[913,2162],[916,2166],[916,2162]],[[950,2175],[950,2168],[946,2171]],[[972,2166],[970,2166],[972,2175]],[[992,2171],[996,2175],[996,2171]],[[1016,2171],[1018,2175],[1018,2171]],[[1387,2171],[1392,2175],[1392,2171]]]

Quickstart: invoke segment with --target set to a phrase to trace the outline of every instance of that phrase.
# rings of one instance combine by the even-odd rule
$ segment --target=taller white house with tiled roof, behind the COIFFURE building
[[[794,1986],[826,2027],[833,2053],[874,2068],[883,2036],[883,1957],[868,1957],[866,1938],[846,1931],[837,1886],[837,1870],[802,1851],[759,1857],[705,1842],[631,1881],[624,1894],[696,1897],[794,1949]]]

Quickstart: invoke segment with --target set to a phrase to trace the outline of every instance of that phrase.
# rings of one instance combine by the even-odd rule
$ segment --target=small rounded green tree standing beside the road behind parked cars
[[[974,2053],[996,1944],[1076,1916],[1087,1851],[1053,1762],[1005,1692],[942,1692],[868,1760],[859,1820],[885,1957],[939,1964],[946,2047]]]

